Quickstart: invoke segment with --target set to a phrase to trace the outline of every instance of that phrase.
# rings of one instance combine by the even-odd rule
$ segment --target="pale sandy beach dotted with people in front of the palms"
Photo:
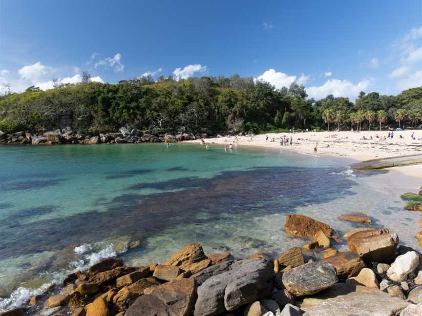
[[[414,133],[414,138],[411,135]],[[266,139],[268,136],[268,140]],[[377,138],[378,136],[378,138]],[[396,157],[404,155],[414,155],[422,153],[422,130],[394,131],[393,138],[380,140],[388,136],[388,131],[330,131],[330,132],[298,132],[298,133],[277,133],[260,134],[254,136],[226,136],[221,138],[207,138],[206,143],[225,144],[232,143],[234,146],[263,146],[270,148],[281,148],[285,150],[296,150],[303,153],[312,154],[314,146],[318,143],[317,155],[328,155],[335,157],[352,158],[359,161]],[[280,139],[293,138],[293,144],[282,146]],[[367,139],[362,139],[363,137]],[[372,137],[372,139],[371,139]],[[402,137],[402,138],[401,138]],[[198,142],[192,140],[189,142]],[[388,169],[399,171],[404,175],[418,178],[422,184],[422,165],[405,167],[395,167]]]

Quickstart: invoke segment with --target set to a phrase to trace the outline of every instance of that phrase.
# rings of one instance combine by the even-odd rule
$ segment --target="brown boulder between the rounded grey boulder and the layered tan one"
[[[339,252],[336,256],[323,258],[321,261],[334,265],[340,280],[357,276],[360,270],[366,268],[366,264],[360,256],[350,251]]]

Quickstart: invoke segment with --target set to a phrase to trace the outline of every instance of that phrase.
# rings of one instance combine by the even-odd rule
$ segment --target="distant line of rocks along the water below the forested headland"
[[[148,131],[127,129],[122,127],[118,132],[82,134],[73,131],[70,127],[57,129],[45,133],[16,132],[6,134],[0,131],[0,145],[3,144],[30,144],[30,145],[58,145],[58,144],[124,144],[145,142],[177,142],[208,138],[207,134],[193,135],[181,132],[179,134],[150,134]]]

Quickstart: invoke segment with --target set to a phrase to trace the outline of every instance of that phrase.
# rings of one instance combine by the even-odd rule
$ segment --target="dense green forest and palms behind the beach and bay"
[[[0,130],[42,133],[57,127],[57,115],[72,111],[72,128],[80,133],[116,131],[122,126],[149,134],[270,132],[415,127],[422,122],[422,87],[397,96],[361,92],[348,98],[309,99],[295,82],[275,89],[268,82],[233,75],[175,80],[143,77],[117,84],[56,84],[41,91],[0,97]]]

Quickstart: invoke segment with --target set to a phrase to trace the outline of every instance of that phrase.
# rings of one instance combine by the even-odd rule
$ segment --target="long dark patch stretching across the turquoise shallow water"
[[[116,197],[106,212],[89,211],[31,223],[18,220],[13,228],[10,223],[2,221],[0,253],[4,258],[15,257],[122,235],[142,240],[175,225],[224,221],[228,220],[227,214],[245,212],[260,215],[291,213],[297,206],[353,195],[349,189],[357,183],[331,174],[332,171],[267,167],[228,171],[207,179],[192,177],[138,184],[130,189],[183,187],[185,190],[150,195],[125,193]],[[276,202],[277,199],[282,201]],[[257,203],[262,207],[248,209]],[[38,211],[48,212],[49,208]],[[198,212],[207,216],[197,217]],[[233,223],[236,224],[239,223]]]

